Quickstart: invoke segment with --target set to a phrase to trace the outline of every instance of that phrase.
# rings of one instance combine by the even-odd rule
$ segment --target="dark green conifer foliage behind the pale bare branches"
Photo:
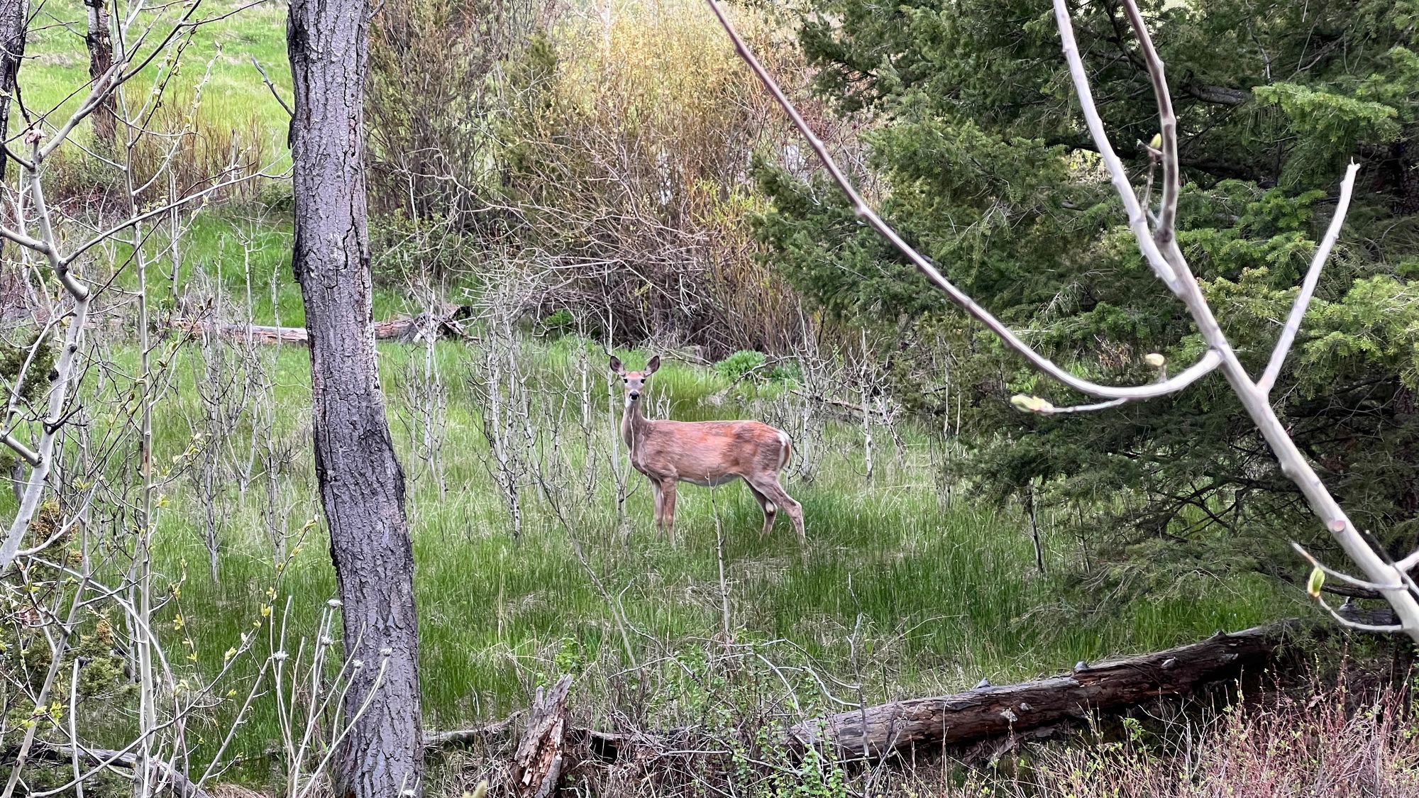
[[[1141,142],[1158,126],[1148,75],[1117,6],[1073,11],[1095,101],[1141,192]],[[1330,222],[1345,160],[1361,159],[1345,236],[1276,403],[1357,523],[1396,554],[1412,548],[1419,58],[1408,38],[1419,3],[1223,0],[1144,11],[1178,114],[1179,243],[1253,373]],[[1148,354],[1172,369],[1200,354],[1101,179],[1047,7],[830,0],[802,18],[800,40],[819,91],[881,121],[868,155],[883,214],[1032,345],[1114,383],[1156,379]],[[1084,398],[948,308],[822,177],[809,185],[763,159],[755,169],[773,199],[756,234],[785,274],[832,317],[900,342],[880,355],[911,406],[945,413],[937,402],[965,392],[965,429],[976,434],[954,467],[998,498],[1043,488],[1044,505],[1098,558],[1084,562],[1090,582],[1169,592],[1225,569],[1290,578],[1283,541],[1325,545],[1219,378],[1105,413],[1017,413],[1015,393],[1054,405]]]

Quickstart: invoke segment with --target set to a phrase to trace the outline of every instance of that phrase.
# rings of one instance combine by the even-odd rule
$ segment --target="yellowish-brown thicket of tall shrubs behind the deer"
[[[783,26],[741,16],[805,85]],[[702,4],[407,0],[376,17],[372,65],[386,274],[517,283],[519,310],[558,327],[565,311],[596,338],[711,356],[799,338],[748,222],[753,153],[796,145]]]

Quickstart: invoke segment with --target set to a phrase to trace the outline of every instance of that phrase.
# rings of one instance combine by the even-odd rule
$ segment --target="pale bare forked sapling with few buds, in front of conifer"
[[[853,210],[857,216],[873,230],[881,234],[888,243],[891,243],[891,246],[895,247],[902,256],[905,256],[917,271],[921,273],[928,283],[931,283],[931,285],[944,293],[952,302],[964,308],[975,319],[985,324],[1009,349],[1015,351],[1034,368],[1060,383],[1087,396],[1100,399],[1097,403],[1057,408],[1037,396],[1016,396],[1012,399],[1012,403],[1017,409],[1034,413],[1080,413],[1117,408],[1128,402],[1155,399],[1175,393],[1213,371],[1220,371],[1232,390],[1240,399],[1247,416],[1250,416],[1253,423],[1256,423],[1263,439],[1266,439],[1267,444],[1271,447],[1271,452],[1280,464],[1281,473],[1296,483],[1297,488],[1305,497],[1305,501],[1320,518],[1324,528],[1335,538],[1340,547],[1349,555],[1351,561],[1362,572],[1362,576],[1351,576],[1331,569],[1303,552],[1313,565],[1313,575],[1310,579],[1311,595],[1320,599],[1321,582],[1327,575],[1341,579],[1351,586],[1374,591],[1389,602],[1389,606],[1393,609],[1396,616],[1395,623],[1366,625],[1351,622],[1331,609],[1323,599],[1320,601],[1338,622],[1347,626],[1371,632],[1402,632],[1410,639],[1419,642],[1419,585],[1416,585],[1415,579],[1409,575],[1409,571],[1419,565],[1419,551],[1399,559],[1398,562],[1391,562],[1386,557],[1378,552],[1369,541],[1366,541],[1365,535],[1340,507],[1325,484],[1321,483],[1315,470],[1297,447],[1296,442],[1291,440],[1286,426],[1277,417],[1270,399],[1271,388],[1281,373],[1281,366],[1286,362],[1291,344],[1300,329],[1301,319],[1310,305],[1317,281],[1320,280],[1321,268],[1330,257],[1330,251],[1335,246],[1335,241],[1340,239],[1341,229],[1345,222],[1345,212],[1349,206],[1351,193],[1355,186],[1355,176],[1359,170],[1358,165],[1351,163],[1345,170],[1345,176],[1341,180],[1340,187],[1340,199],[1335,204],[1335,213],[1331,217],[1330,227],[1327,229],[1320,244],[1315,247],[1310,268],[1301,283],[1300,291],[1297,291],[1290,315],[1281,327],[1276,348],[1271,352],[1266,369],[1261,375],[1253,378],[1247,373],[1236,351],[1232,348],[1230,341],[1218,324],[1218,319],[1212,312],[1212,307],[1203,297],[1202,288],[1198,285],[1196,277],[1188,266],[1186,257],[1178,244],[1178,196],[1182,187],[1182,170],[1178,158],[1178,121],[1174,115],[1168,82],[1164,77],[1164,62],[1152,44],[1142,11],[1138,9],[1135,0],[1122,0],[1124,11],[1128,17],[1130,26],[1132,27],[1134,35],[1137,37],[1138,48],[1142,54],[1142,62],[1147,65],[1148,75],[1152,81],[1154,97],[1158,104],[1161,132],[1156,146],[1149,148],[1152,151],[1152,169],[1156,170],[1158,165],[1162,166],[1162,187],[1156,209],[1151,206],[1151,195],[1145,195],[1144,200],[1139,200],[1124,162],[1114,152],[1114,148],[1108,141],[1108,135],[1104,131],[1104,121],[1100,116],[1098,109],[1094,106],[1093,89],[1088,82],[1088,74],[1084,68],[1083,57],[1080,55],[1078,44],[1074,41],[1074,27],[1070,20],[1069,3],[1066,0],[1054,0],[1054,18],[1060,30],[1064,60],[1069,64],[1070,78],[1074,84],[1074,92],[1078,97],[1080,111],[1084,115],[1090,136],[1098,151],[1098,158],[1107,169],[1110,179],[1122,200],[1128,219],[1128,227],[1134,234],[1144,261],[1158,280],[1162,281],[1168,291],[1183,304],[1196,324],[1198,332],[1206,342],[1206,349],[1196,362],[1176,371],[1171,376],[1159,373],[1159,379],[1156,382],[1147,385],[1103,385],[1071,373],[1064,366],[1032,348],[1020,339],[1020,337],[1010,331],[999,318],[990,314],[990,311],[981,307],[965,291],[946,280],[929,260],[927,260],[890,224],[887,224],[887,222],[884,222],[863,200],[861,195],[847,179],[847,175],[837,165],[832,153],[829,153],[822,139],[815,135],[813,129],[809,128],[807,122],[803,119],[802,114],[799,114],[793,102],[783,94],[783,89],[779,88],[773,77],[769,75],[759,60],[753,55],[744,38],[735,30],[734,23],[729,20],[719,1],[707,0],[707,3],[719,20],[725,33],[729,35],[739,57],[745,61],[749,70],[753,71],[769,94],[773,95],[775,101],[778,101],[778,104],[783,108],[785,114],[788,114],[789,119],[817,155],[817,159],[822,162],[829,176],[851,202]],[[1149,204],[1145,206],[1145,203]]]

